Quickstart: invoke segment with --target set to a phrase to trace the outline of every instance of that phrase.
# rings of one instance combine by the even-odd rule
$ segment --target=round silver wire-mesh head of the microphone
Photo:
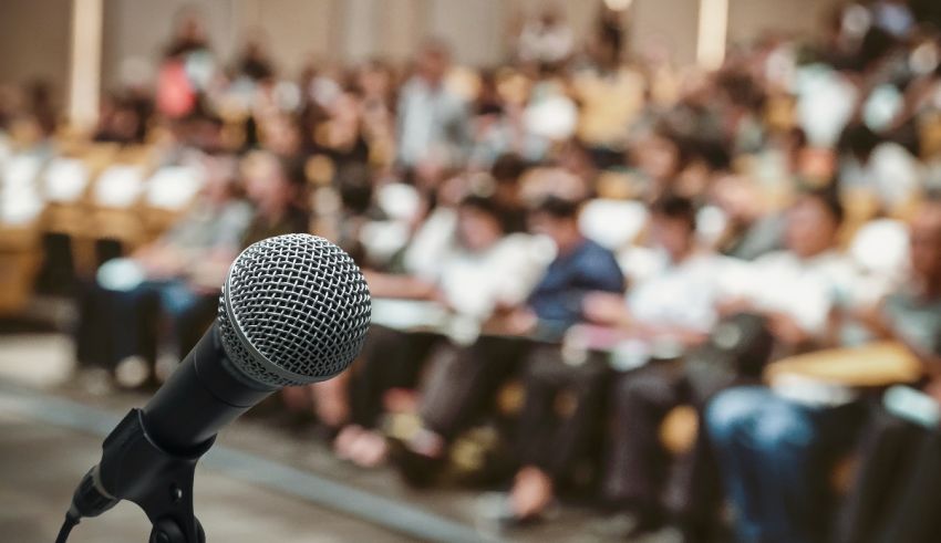
[[[278,236],[248,247],[229,269],[219,337],[250,380],[304,385],[352,364],[370,312],[365,279],[342,249],[317,236]]]

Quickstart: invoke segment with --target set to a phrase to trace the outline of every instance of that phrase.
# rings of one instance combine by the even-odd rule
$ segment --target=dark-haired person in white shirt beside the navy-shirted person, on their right
[[[724,260],[696,247],[695,208],[689,199],[670,195],[658,199],[651,208],[650,227],[660,269],[629,289],[627,303],[622,294],[587,296],[585,316],[648,346],[653,341],[681,348],[695,345],[715,323]],[[592,421],[601,419],[610,369],[597,357],[572,369],[558,354],[544,352],[540,359],[527,366],[525,379],[526,401],[518,436],[523,469],[515,479],[507,511],[516,519],[538,515],[549,504],[557,479],[583,452]],[[554,404],[563,396],[573,401],[568,416],[559,418],[552,414]],[[618,415],[619,421],[621,416],[639,416]],[[627,427],[623,430],[618,429],[622,440],[635,438]],[[617,488],[622,482],[620,466],[608,471],[606,485],[613,489],[610,491],[627,493]]]

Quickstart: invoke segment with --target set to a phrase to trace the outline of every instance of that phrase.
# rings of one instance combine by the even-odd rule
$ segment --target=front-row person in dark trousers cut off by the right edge
[[[875,338],[907,345],[924,365],[924,393],[941,404],[941,202],[910,226],[911,280],[860,321]],[[875,406],[835,540],[840,543],[941,541],[929,497],[941,491],[941,432]]]

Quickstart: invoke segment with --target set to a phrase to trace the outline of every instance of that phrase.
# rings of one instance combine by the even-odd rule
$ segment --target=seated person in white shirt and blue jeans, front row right
[[[833,249],[840,215],[833,199],[802,196],[788,212],[788,252],[755,262],[759,275],[746,284],[743,305],[767,315],[780,352],[831,343],[828,322],[852,283]],[[737,387],[706,408],[705,430],[741,541],[827,540],[829,468],[852,441],[858,409],[786,399],[786,393]]]

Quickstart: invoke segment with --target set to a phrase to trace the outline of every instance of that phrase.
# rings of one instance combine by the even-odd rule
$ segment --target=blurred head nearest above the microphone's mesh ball
[[[269,153],[249,155],[245,165],[245,190],[258,212],[269,219],[283,216],[303,191],[303,161]]]

